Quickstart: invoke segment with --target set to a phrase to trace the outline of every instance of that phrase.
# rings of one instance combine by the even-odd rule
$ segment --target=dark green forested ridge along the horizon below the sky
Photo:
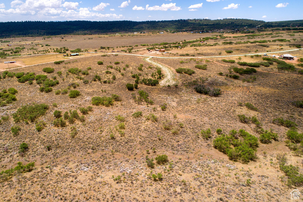
[[[65,21],[65,22],[0,22],[0,38],[17,36],[49,36],[68,34],[104,34],[133,31],[187,30],[203,31],[214,29],[271,28],[303,26],[303,20],[265,22],[249,19],[187,19],[163,21]]]

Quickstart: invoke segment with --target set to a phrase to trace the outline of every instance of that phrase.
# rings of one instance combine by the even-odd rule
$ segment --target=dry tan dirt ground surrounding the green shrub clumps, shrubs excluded
[[[301,33],[296,33],[295,36],[287,34],[287,32],[279,34],[284,36],[279,38],[297,38],[297,40],[281,42],[284,43],[283,47],[300,43]],[[191,35],[184,35],[186,36]],[[198,38],[196,35],[193,36],[195,36],[193,39]],[[74,36],[69,37],[74,38]],[[253,40],[261,40],[261,37],[265,36],[260,36],[260,39],[256,37]],[[181,35],[180,38],[182,38]],[[269,37],[266,35],[265,39],[267,38]],[[58,47],[61,47],[59,42],[62,39],[54,39],[58,40]],[[148,38],[148,40],[154,39]],[[158,38],[156,40],[159,41]],[[224,40],[239,39],[225,38]],[[224,40],[218,42],[222,43]],[[123,43],[127,44],[128,41]],[[81,47],[83,44],[75,44],[75,47],[84,49],[84,46]],[[271,45],[277,46],[277,44],[280,42]],[[198,48],[198,51],[195,48]],[[163,55],[179,57],[180,54],[188,53],[190,54],[188,57],[194,57],[191,55],[198,56],[197,53],[200,52],[203,55],[199,56],[202,57],[211,55],[210,53],[214,53],[212,56],[219,56],[220,51],[221,55],[228,55],[225,54],[227,49],[234,50],[233,55],[245,55],[257,54],[261,51],[279,51],[280,47],[278,49],[271,46],[261,47],[258,44],[185,47],[185,49],[172,49],[171,54]],[[258,49],[257,52],[255,52],[256,49]],[[177,51],[178,55],[176,55]],[[298,58],[302,57],[300,50],[290,53]],[[18,161],[23,164],[35,162],[33,171],[14,174],[7,180],[0,181],[2,187],[0,201],[261,202],[291,201],[289,193],[295,188],[302,193],[302,187],[285,186],[281,182],[280,177],[284,176],[284,173],[276,164],[276,155],[281,152],[286,153],[288,164],[298,166],[300,173],[303,170],[302,157],[296,156],[294,151],[285,146],[288,128],[272,123],[274,118],[283,117],[297,123],[299,133],[303,131],[303,109],[291,104],[292,101],[303,100],[301,93],[303,77],[298,75],[298,70],[301,68],[296,65],[300,62],[293,63],[296,65],[296,72],[278,71],[277,65],[273,64],[270,67],[256,68],[258,71],[252,75],[239,75],[239,79],[232,79],[225,76],[235,74],[230,73],[229,68],[242,66],[237,63],[225,63],[221,59],[258,62],[262,61],[262,57],[241,56],[241,59],[239,56],[154,57],[149,61],[145,60],[146,56],[140,56],[139,51],[134,51],[130,55],[88,54],[84,56],[90,57],[70,60],[60,58],[60,60],[65,60],[60,65],[47,63],[9,70],[11,73],[35,72],[36,75],[47,75],[48,78],[57,79],[59,84],[52,87],[53,90],[49,93],[40,92],[41,84],[37,84],[36,81],[33,81],[33,84],[19,83],[16,77],[0,80],[1,91],[8,88],[15,88],[18,91],[15,94],[17,101],[0,107],[0,116],[9,116],[9,119],[4,118],[0,125],[0,172],[15,167]],[[7,59],[1,59],[1,63]],[[17,60],[24,62],[25,65],[56,61],[53,60],[53,56],[46,55],[43,57],[24,56]],[[98,61],[103,61],[103,65],[98,65]],[[115,62],[120,63],[115,64]],[[289,61],[286,62],[289,63]],[[207,69],[198,69],[195,65],[207,65]],[[139,70],[140,66],[143,66],[142,70]],[[127,83],[135,82],[136,78],[132,75],[137,74],[140,79],[154,78],[152,75],[155,74],[157,66],[163,69],[164,80],[178,81],[177,88],[161,85],[164,81],[161,80],[157,86],[139,83],[138,89],[134,91],[126,89]],[[42,71],[45,67],[54,68],[55,71],[47,74]],[[66,73],[70,68],[86,70],[88,67],[91,68],[88,70],[88,75]],[[177,68],[190,68],[195,73],[179,74],[175,72]],[[58,71],[61,71],[62,75],[58,75]],[[218,75],[219,72],[223,75]],[[170,77],[174,74],[175,80]],[[95,75],[100,76],[101,81],[94,81]],[[245,81],[242,81],[243,79]],[[88,80],[88,83],[84,83],[84,80]],[[193,82],[220,88],[222,94],[218,97],[198,94],[193,89]],[[72,83],[79,85],[73,89],[69,87]],[[55,91],[63,89],[67,89],[68,92],[78,90],[81,94],[77,98],[69,98],[68,94],[55,94]],[[135,94],[138,97],[139,90],[148,92],[148,98],[154,103],[150,105],[145,101],[135,101],[133,96]],[[119,95],[121,101],[114,101],[109,107],[95,106],[91,103],[94,96],[102,97],[112,94]],[[37,121],[46,122],[41,132],[35,129],[36,122],[15,123],[12,117],[18,108],[33,102],[49,105],[45,115],[37,118]],[[250,102],[258,108],[258,111],[239,106],[239,102]],[[164,103],[167,104],[167,108],[161,110]],[[87,106],[93,108],[88,114],[84,114],[84,122],[76,120],[74,123],[69,123],[67,121],[65,127],[53,125],[55,110],[62,111],[62,114],[69,110],[77,110],[79,115],[82,115],[79,108]],[[142,112],[139,118],[132,115],[137,111]],[[157,116],[158,121],[149,120],[146,117],[149,114]],[[228,133],[232,129],[245,129],[250,134],[260,137],[260,134],[255,131],[255,124],[241,123],[238,114],[256,116],[265,130],[273,129],[279,136],[279,141],[272,141],[270,144],[259,142],[256,150],[258,159],[248,164],[232,161],[226,154],[212,146],[212,141],[217,136],[215,132],[217,128],[221,128],[223,133]],[[125,129],[118,128],[121,123],[115,118],[118,115],[125,118],[123,121]],[[163,122],[170,123],[169,130],[164,128]],[[12,126],[21,127],[18,135],[12,134]],[[76,128],[75,137],[71,136],[73,130],[71,127]],[[211,130],[211,138],[205,140],[201,137],[201,130],[208,128]],[[111,138],[112,135],[114,138]],[[18,153],[22,142],[29,146],[23,156]],[[266,157],[263,156],[264,151],[268,154]],[[168,162],[155,164],[154,168],[147,166],[146,155],[155,159],[157,155],[162,154],[168,156]],[[157,173],[163,175],[162,180],[153,180],[150,177],[150,174]],[[112,176],[118,175],[121,179],[118,182],[114,181]],[[248,179],[251,179],[251,184],[246,183]]]

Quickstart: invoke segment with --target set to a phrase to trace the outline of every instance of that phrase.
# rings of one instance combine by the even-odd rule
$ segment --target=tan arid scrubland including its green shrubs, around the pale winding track
[[[295,71],[283,71],[292,66],[258,55],[297,49],[292,44],[301,44],[302,33],[287,34],[277,34],[290,40],[286,42],[222,45],[225,40],[276,39],[260,35],[240,40],[232,36],[246,34],[232,34],[207,40],[218,42],[215,46],[190,47],[201,44],[197,41],[184,49],[167,48],[171,54],[154,56],[243,55],[150,58],[175,74],[172,86],[156,83],[166,72],[145,60],[146,49],[129,53],[134,55],[60,56],[53,60],[62,60],[57,65],[2,71],[0,173],[6,173],[0,174],[0,200],[290,201],[293,189],[303,191],[302,63],[277,59],[294,65]],[[212,35],[180,34],[178,41]],[[56,43],[82,50],[102,46]],[[101,51],[112,53],[111,48]],[[289,54],[303,56],[302,50]],[[40,56],[25,57],[42,63]],[[261,65],[245,71],[251,67],[238,62]],[[298,169],[289,174],[289,165]]]

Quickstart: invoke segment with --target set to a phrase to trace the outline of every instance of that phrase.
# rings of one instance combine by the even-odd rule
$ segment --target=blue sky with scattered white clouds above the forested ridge
[[[301,0],[0,0],[0,21],[303,19]]]

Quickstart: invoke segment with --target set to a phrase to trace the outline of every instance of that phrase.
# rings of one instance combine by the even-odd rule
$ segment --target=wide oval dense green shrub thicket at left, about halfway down
[[[14,121],[30,120],[35,121],[36,118],[43,116],[48,109],[46,104],[25,105],[12,114]]]

